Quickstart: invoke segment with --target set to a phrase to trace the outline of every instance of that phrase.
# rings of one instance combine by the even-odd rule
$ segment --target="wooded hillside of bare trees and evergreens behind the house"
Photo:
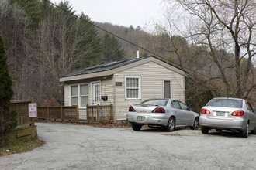
[[[158,25],[155,32],[149,33],[140,27],[92,22],[83,13],[77,18],[68,1],[57,8],[43,0],[2,0],[0,31],[14,99],[34,97],[40,104],[63,104],[60,76],[99,63],[134,58],[139,50],[140,56],[154,55],[189,73],[186,102],[190,107],[199,110],[212,97],[244,97],[256,107],[255,15],[247,15],[255,13],[255,8],[250,7],[255,5],[253,2],[226,4],[230,14],[234,11],[237,14],[225,16],[219,8],[222,1],[215,4],[202,1],[197,6],[177,1],[185,11],[208,10],[206,15],[192,10],[195,16],[206,19],[196,20],[201,29],[193,28],[180,36],[170,31],[173,25]],[[236,32],[236,24],[240,31]],[[221,34],[227,39],[221,39]]]

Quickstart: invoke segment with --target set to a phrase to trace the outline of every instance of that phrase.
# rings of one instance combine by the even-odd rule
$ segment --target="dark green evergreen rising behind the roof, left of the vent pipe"
[[[114,36],[109,36],[108,33],[102,39],[102,62],[119,61],[126,56],[126,52],[122,49],[122,45]]]

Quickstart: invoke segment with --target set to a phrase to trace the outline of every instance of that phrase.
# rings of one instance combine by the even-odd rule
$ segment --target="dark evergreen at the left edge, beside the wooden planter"
[[[9,110],[13,91],[6,61],[5,46],[0,33],[0,146],[6,145],[9,131],[16,127],[16,113]]]

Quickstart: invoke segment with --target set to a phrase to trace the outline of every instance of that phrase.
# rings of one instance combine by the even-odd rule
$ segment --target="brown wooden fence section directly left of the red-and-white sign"
[[[17,113],[17,124],[26,125],[31,124],[32,119],[29,118],[29,103],[32,103],[33,99],[30,100],[12,100],[10,110],[16,111]]]

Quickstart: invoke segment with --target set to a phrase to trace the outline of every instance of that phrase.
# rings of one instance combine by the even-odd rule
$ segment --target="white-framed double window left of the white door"
[[[88,84],[71,85],[71,105],[86,107],[88,104]]]

